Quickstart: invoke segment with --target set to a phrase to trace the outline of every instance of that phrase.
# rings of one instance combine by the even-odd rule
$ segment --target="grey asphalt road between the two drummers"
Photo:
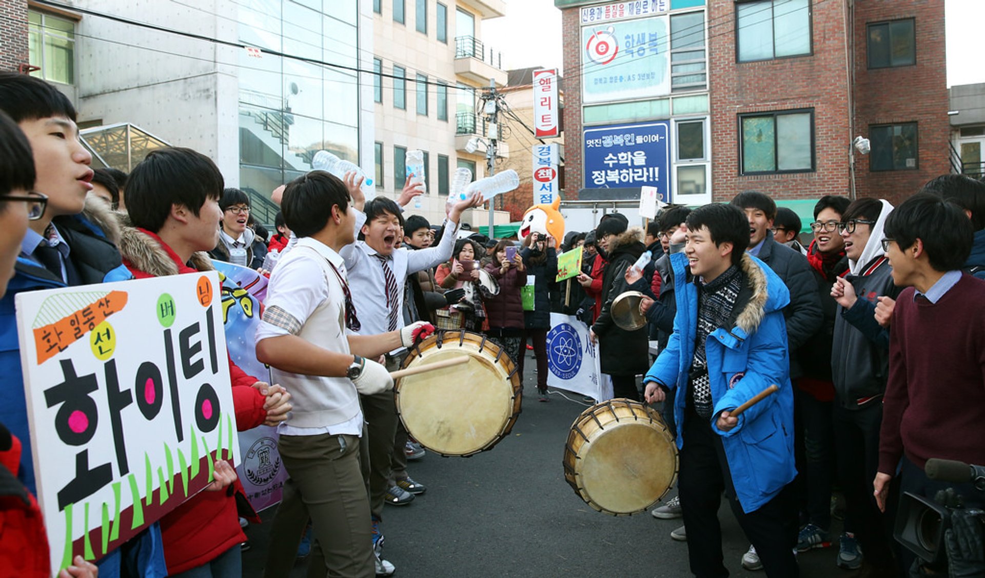
[[[384,558],[405,578],[484,577],[678,577],[689,576],[688,549],[670,532],[680,520],[649,512],[614,517],[593,510],[564,482],[561,459],[574,418],[587,405],[581,396],[553,392],[537,401],[527,363],[523,412],[493,450],[471,458],[428,453],[410,463],[410,475],[427,485],[406,506],[385,506]],[[466,387],[463,384],[463,387]],[[673,495],[669,494],[669,495]],[[262,517],[269,521],[271,508]],[[749,543],[723,503],[725,563],[733,576],[764,576],[742,568]],[[243,576],[259,577],[269,523],[246,530]],[[837,530],[840,531],[840,530]],[[852,578],[835,567],[837,546],[799,555],[806,578]],[[305,576],[298,562],[291,578]]]

